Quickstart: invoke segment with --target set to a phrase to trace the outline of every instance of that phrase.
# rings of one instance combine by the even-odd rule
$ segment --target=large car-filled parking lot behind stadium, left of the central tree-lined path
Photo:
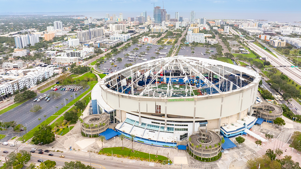
[[[149,48],[150,50],[146,51],[146,49],[147,49],[146,47],[147,46],[151,46],[152,48]],[[121,51],[119,54],[117,54],[115,56],[112,56],[112,57],[115,58],[115,60],[118,57],[122,58],[121,62],[118,62],[118,61],[113,62],[114,65],[116,65],[116,66],[114,66],[114,65],[111,66],[110,60],[106,59],[106,62],[100,64],[100,66],[98,67],[98,69],[100,71],[104,71],[105,73],[110,73],[110,72],[114,72],[115,70],[118,71],[118,70],[124,69],[125,68],[124,65],[126,63],[132,63],[134,65],[134,64],[137,64],[137,63],[144,62],[144,61],[142,61],[142,59],[147,59],[147,61],[148,61],[148,60],[151,60],[151,57],[155,57],[156,59],[158,59],[159,57],[165,57],[168,54],[169,49],[172,47],[172,45],[166,45],[166,46],[164,46],[164,48],[167,48],[167,49],[161,49],[160,51],[156,51],[156,49],[158,49],[159,47],[161,47],[161,45],[142,45],[142,47],[138,47],[137,44],[131,45],[131,47],[129,47],[129,48]],[[139,48],[139,50],[133,51],[134,48]],[[139,57],[138,55],[134,56],[136,58],[125,57],[126,52],[130,52],[130,51],[137,52],[138,54],[140,52],[146,52],[147,54],[145,54],[144,57]],[[159,55],[157,55],[157,54],[155,54],[156,52],[165,52],[166,54],[159,54]],[[125,54],[123,54],[123,53],[125,53]],[[130,57],[132,57],[132,56],[130,56]],[[133,61],[126,61],[126,60],[133,60]],[[104,68],[106,70],[104,70]],[[111,70],[108,70],[110,68],[111,68]]]

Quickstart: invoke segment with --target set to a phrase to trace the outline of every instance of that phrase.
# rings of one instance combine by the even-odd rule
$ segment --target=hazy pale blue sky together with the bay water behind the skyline
[[[119,16],[122,12],[123,18],[127,18],[147,11],[153,17],[154,5],[163,8],[161,0],[0,0],[0,14],[51,12],[104,18],[105,13]],[[171,18],[175,18],[176,11],[183,18],[189,18],[189,12],[195,11],[196,18],[292,22],[301,21],[300,6],[301,0],[164,0],[164,9]]]

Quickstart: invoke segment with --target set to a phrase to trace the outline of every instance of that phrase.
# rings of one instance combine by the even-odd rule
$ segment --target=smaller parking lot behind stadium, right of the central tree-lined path
[[[206,48],[206,47],[194,47],[194,54],[191,53],[191,47],[189,46],[182,46],[184,47],[185,49],[180,49],[178,55],[183,55],[183,56],[186,56],[186,57],[202,57],[202,58],[209,58],[212,54],[216,54],[216,48],[214,47],[209,47],[209,48]],[[209,55],[205,55],[205,52],[206,50],[209,50],[209,51],[213,51],[213,52],[210,52]],[[203,55],[202,55],[203,54]]]

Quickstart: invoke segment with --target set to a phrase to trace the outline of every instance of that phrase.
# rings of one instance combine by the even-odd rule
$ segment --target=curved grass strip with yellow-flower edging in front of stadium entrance
[[[112,153],[113,151],[113,154],[119,154],[119,155],[130,155],[130,156],[133,156],[133,157],[141,157],[141,158],[146,158],[148,159],[149,157],[151,157],[151,159],[153,160],[168,160],[169,158],[167,157],[164,157],[162,155],[158,155],[158,157],[156,158],[155,154],[151,154],[149,155],[148,153],[145,153],[145,152],[140,152],[140,151],[136,151],[135,152],[132,152],[132,149],[129,149],[129,148],[126,148],[124,147],[124,149],[122,149],[122,147],[112,147],[112,148],[104,148],[104,151],[99,151],[99,152],[102,152],[102,153]]]

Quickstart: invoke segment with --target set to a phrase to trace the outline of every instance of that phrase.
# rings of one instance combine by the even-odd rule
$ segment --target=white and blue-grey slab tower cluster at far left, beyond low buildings
[[[26,46],[30,45],[35,45],[36,43],[40,42],[39,40],[39,35],[34,34],[34,35],[21,35],[15,37],[15,44],[16,48],[24,48]]]

